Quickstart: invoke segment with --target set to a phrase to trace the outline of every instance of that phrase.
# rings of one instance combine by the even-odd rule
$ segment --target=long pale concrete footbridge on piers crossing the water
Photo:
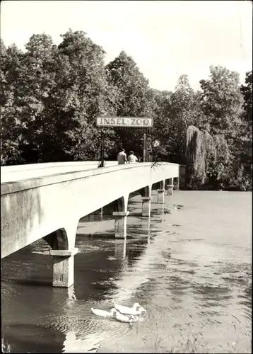
[[[73,256],[79,219],[112,203],[115,237],[127,237],[129,196],[142,197],[142,215],[151,213],[152,185],[157,202],[165,188],[179,185],[180,165],[152,163],[117,165],[107,161],[1,167],[1,258],[38,239],[52,247],[53,286],[73,285]]]

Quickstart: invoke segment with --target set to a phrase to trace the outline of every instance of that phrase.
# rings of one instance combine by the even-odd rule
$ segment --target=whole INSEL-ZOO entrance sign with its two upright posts
[[[153,118],[147,117],[98,117],[97,127],[152,128]],[[104,133],[101,132],[101,167],[104,166]],[[143,135],[143,162],[147,161],[147,133]]]

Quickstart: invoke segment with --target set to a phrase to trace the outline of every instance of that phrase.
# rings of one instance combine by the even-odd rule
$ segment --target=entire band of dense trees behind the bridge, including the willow
[[[148,148],[185,164],[189,188],[252,188],[252,72],[240,86],[236,72],[210,67],[200,91],[185,74],[175,91],[159,91],[126,52],[105,65],[86,33],[61,38],[32,35],[25,51],[1,41],[1,165],[100,159],[95,118],[142,116],[153,118]],[[120,146],[142,156],[143,130],[103,133],[105,158]]]

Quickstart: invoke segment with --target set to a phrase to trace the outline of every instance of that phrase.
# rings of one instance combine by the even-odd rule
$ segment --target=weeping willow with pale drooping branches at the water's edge
[[[186,139],[187,185],[198,188],[209,178],[220,179],[228,163],[229,149],[223,135],[212,136],[194,125],[187,129]]]

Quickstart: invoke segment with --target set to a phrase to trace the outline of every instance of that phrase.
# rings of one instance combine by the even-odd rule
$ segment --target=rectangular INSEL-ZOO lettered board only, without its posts
[[[98,127],[153,127],[153,118],[146,117],[98,117]]]

